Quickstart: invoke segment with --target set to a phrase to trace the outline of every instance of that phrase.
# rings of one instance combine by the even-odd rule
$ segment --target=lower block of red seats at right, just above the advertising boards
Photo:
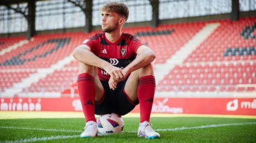
[[[242,62],[243,63],[243,62]],[[187,67],[186,64],[180,66],[176,65],[173,70],[170,71],[169,75],[166,75],[159,85],[238,85],[238,84],[256,84],[255,80],[255,62],[246,62],[245,64],[213,64],[204,65],[198,64],[194,66],[193,64]],[[193,87],[191,88],[178,88],[178,90],[195,91]],[[241,91],[242,88],[239,88]],[[249,88],[252,90],[252,88]],[[164,90],[164,89],[160,89]],[[170,90],[170,89],[168,89]],[[172,89],[173,90],[173,89]],[[199,91],[205,90],[204,88],[199,88]],[[207,90],[215,91],[213,88],[208,88]],[[237,88],[235,89],[237,90]],[[247,90],[245,88],[244,90]],[[222,89],[223,91],[223,89]]]

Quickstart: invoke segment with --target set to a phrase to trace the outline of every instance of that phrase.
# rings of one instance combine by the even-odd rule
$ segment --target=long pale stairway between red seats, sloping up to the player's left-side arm
[[[39,79],[45,78],[48,74],[52,74],[54,70],[60,70],[65,64],[69,64],[72,60],[73,56],[71,53],[69,56],[59,60],[56,64],[52,64],[50,68],[37,68],[37,73],[31,74],[30,77],[23,79],[22,82],[16,83],[13,87],[6,89],[5,92],[2,93],[2,96],[13,97],[17,94],[19,94],[19,96],[24,96],[21,94],[23,88],[30,87],[31,84],[38,82]],[[60,92],[54,94],[60,96]]]

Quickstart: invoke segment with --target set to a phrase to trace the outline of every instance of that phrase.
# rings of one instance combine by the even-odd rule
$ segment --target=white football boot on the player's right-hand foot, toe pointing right
[[[148,138],[148,139],[159,139],[160,138],[159,133],[155,132],[155,130],[152,129],[151,126],[152,124],[149,123],[148,121],[144,121],[143,123],[140,123],[138,136],[139,137],[144,136],[145,138]]]

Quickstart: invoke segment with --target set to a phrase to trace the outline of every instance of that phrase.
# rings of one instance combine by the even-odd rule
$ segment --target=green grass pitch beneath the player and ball
[[[138,138],[139,118],[123,118],[123,120],[125,121],[123,133],[97,138],[79,137],[85,125],[84,118],[0,120],[0,142],[256,142],[256,119],[152,117],[151,123],[155,130],[169,129],[158,131],[161,135],[160,139]],[[46,138],[56,136],[60,138]],[[73,138],[63,139],[63,136],[73,136]]]

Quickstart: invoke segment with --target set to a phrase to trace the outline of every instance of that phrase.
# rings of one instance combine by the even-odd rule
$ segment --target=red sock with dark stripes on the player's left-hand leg
[[[93,76],[88,73],[81,73],[77,79],[78,93],[83,107],[84,117],[87,121],[95,119],[95,96],[96,88]]]

